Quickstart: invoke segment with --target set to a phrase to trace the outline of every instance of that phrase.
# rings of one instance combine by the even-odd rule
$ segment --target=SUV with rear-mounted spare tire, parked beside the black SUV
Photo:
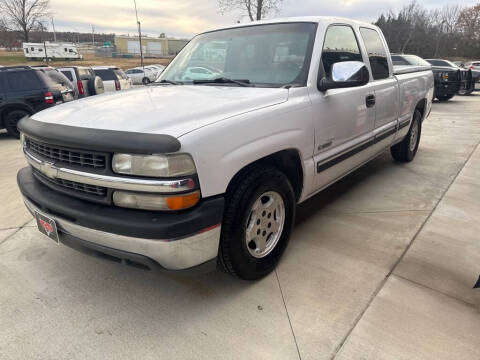
[[[79,98],[103,94],[103,80],[91,67],[66,66],[58,70],[72,82]]]

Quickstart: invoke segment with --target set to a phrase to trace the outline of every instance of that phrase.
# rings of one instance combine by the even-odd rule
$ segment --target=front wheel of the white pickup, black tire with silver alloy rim
[[[274,167],[254,167],[227,194],[219,261],[244,280],[269,274],[287,247],[295,220],[295,194]]]

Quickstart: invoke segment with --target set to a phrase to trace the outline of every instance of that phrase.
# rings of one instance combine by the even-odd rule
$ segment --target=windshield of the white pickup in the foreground
[[[201,34],[183,48],[157,82],[192,84],[227,78],[260,87],[304,86],[315,31],[313,23],[285,23]]]

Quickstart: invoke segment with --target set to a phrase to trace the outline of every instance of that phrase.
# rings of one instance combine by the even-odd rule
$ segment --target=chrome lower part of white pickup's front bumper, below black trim
[[[189,269],[217,257],[220,225],[181,239],[142,239],[80,226],[38,209],[25,197],[23,200],[32,214],[37,211],[55,220],[60,240],[63,234],[68,234],[93,244],[143,255],[167,270]]]

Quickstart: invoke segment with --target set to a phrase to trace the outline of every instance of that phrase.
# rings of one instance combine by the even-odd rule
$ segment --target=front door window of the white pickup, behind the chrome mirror
[[[330,26],[323,44],[322,64],[325,74],[330,76],[332,65],[343,61],[363,61],[357,39],[350,26]]]

